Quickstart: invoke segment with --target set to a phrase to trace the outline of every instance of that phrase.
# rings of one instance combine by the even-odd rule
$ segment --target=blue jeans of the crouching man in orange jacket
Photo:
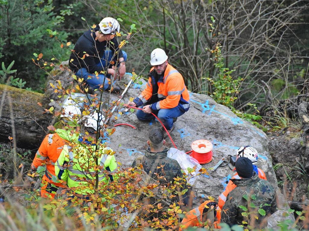
[[[143,106],[139,108],[143,108]],[[161,120],[167,130],[171,130],[171,128],[173,127],[173,118],[177,118],[180,115],[183,115],[184,111],[181,111],[178,107],[173,107],[169,109],[152,111],[152,113],[158,116],[158,118]],[[153,116],[152,114],[144,113],[142,110],[137,110],[136,117],[138,118],[138,120],[141,121],[149,121],[155,118],[155,116]]]

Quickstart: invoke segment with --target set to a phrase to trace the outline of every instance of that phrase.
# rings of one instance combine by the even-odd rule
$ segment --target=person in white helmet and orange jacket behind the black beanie
[[[244,147],[239,148],[237,150],[236,160],[239,157],[246,157],[249,160],[251,160],[253,164],[253,171],[256,172],[256,174],[258,174],[260,179],[267,180],[265,172],[262,169],[256,167],[256,165],[254,165],[259,158],[259,155],[255,148],[250,147],[250,146],[244,146]],[[236,168],[234,168],[233,171],[236,171]],[[241,179],[241,177],[236,172],[235,175],[231,179]],[[218,199],[218,206],[220,207],[220,209],[222,209],[223,205],[226,202],[227,194],[229,194],[229,192],[231,192],[234,188],[236,188],[236,185],[231,180],[229,180],[228,184],[226,185],[225,190],[221,193]]]

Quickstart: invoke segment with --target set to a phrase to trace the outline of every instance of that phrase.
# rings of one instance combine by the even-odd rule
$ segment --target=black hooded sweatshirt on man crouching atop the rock
[[[119,43],[115,36],[110,41],[95,41],[95,31],[99,30],[99,26],[96,26],[93,30],[87,30],[77,40],[74,52],[70,55],[69,66],[70,69],[76,73],[80,68],[85,67],[89,73],[95,73],[95,71],[103,71],[108,67],[102,67],[97,65],[100,63],[99,57],[103,57],[106,48],[109,48],[114,52],[114,61],[122,56],[122,51],[119,50]]]

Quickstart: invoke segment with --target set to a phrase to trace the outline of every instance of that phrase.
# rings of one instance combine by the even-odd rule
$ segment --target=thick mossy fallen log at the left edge
[[[0,141],[10,136],[17,147],[38,148],[52,120],[38,104],[42,99],[43,94],[0,85]]]

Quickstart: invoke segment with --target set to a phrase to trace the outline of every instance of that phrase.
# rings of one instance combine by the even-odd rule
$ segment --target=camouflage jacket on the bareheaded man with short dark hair
[[[142,162],[145,172],[150,177],[158,179],[159,176],[164,176],[165,179],[159,179],[161,184],[173,182],[174,177],[182,177],[180,165],[176,160],[167,157],[167,151],[168,149],[165,148],[162,152],[150,152],[148,147]],[[132,167],[135,166],[136,159],[132,163]]]

